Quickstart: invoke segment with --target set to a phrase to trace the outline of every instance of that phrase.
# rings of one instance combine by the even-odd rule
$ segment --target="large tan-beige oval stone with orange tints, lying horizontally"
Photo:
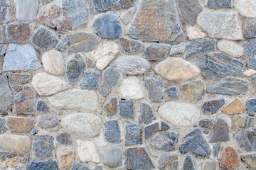
[[[159,62],[154,67],[154,71],[171,81],[192,79],[200,73],[196,66],[178,57],[168,57],[163,62]]]

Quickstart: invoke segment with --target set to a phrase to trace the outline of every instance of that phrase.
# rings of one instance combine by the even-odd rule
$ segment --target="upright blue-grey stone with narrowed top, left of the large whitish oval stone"
[[[140,124],[149,124],[156,119],[154,110],[148,103],[142,103],[138,119]]]

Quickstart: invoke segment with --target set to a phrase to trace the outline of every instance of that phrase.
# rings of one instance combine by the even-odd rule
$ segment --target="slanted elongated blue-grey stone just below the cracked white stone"
[[[114,67],[108,67],[103,71],[103,81],[100,84],[99,90],[102,96],[107,96],[114,86],[117,86],[120,78],[119,72]]]

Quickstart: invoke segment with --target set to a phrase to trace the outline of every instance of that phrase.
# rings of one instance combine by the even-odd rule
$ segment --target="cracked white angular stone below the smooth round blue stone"
[[[119,47],[115,42],[101,42],[95,50],[90,53],[96,61],[97,69],[105,69],[107,64],[114,59],[114,55],[119,51]]]

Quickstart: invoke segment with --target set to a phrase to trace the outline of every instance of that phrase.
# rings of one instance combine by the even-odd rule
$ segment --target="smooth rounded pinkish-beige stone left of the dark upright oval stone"
[[[50,50],[42,57],[42,63],[46,72],[55,75],[63,75],[65,73],[65,63],[63,55],[58,50]]]

